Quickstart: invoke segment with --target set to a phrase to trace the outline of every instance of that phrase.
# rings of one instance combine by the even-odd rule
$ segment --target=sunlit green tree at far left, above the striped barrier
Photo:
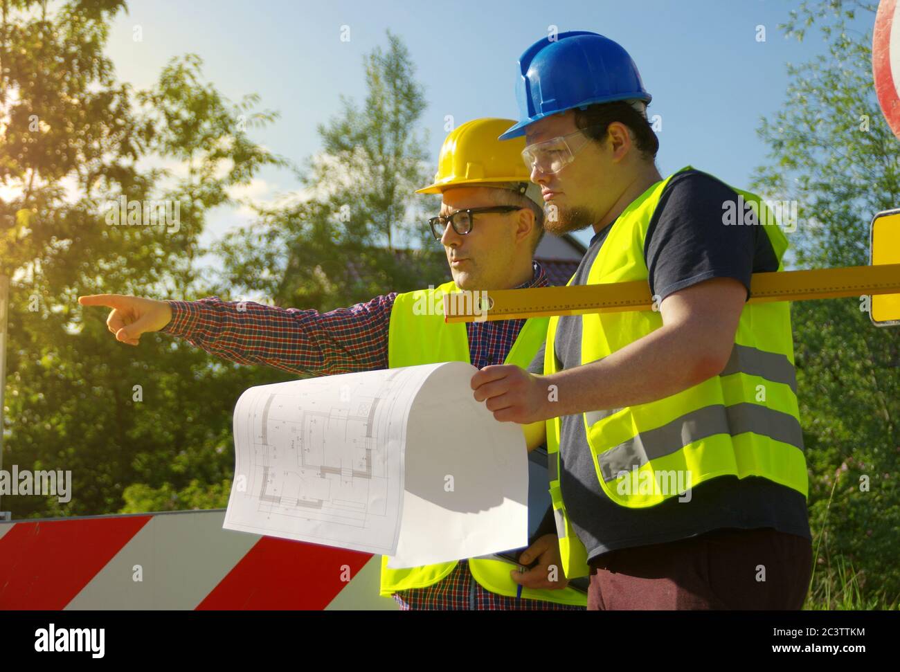
[[[12,278],[4,469],[73,479],[67,504],[3,497],[15,517],[115,512],[132,484],[143,486],[129,506],[221,505],[234,401],[274,377],[211,366],[170,337],[139,351],[117,344],[105,314],[77,305],[88,293],[209,293],[196,271],[207,211],[263,166],[285,165],[244,130],[274,115],[251,112],[254,96],[229,103],[195,56],[171,61],[148,90],[118,82],[103,49],[124,9],[0,0],[0,273]],[[142,225],[111,226],[121,196],[165,203],[172,226],[147,226],[144,213]]]

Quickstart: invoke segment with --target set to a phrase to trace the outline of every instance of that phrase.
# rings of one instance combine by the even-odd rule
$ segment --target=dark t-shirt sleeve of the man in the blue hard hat
[[[712,175],[676,175],[662,193],[644,241],[650,290],[659,300],[711,278],[734,278],[750,296],[761,226],[726,224],[738,194]],[[743,212],[737,219],[743,222]],[[776,270],[776,268],[766,270]]]

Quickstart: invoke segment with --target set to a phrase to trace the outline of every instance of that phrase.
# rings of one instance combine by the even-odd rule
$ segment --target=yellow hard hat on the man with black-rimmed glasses
[[[514,189],[543,205],[540,187],[533,184],[522,150],[525,138],[500,141],[498,137],[516,121],[474,119],[450,131],[437,158],[434,184],[416,193],[442,193],[452,186],[494,186]]]

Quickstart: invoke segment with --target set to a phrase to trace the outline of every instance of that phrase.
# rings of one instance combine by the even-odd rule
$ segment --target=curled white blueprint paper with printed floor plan
[[[392,556],[392,568],[527,544],[521,427],[452,362],[250,388],[224,527]]]

